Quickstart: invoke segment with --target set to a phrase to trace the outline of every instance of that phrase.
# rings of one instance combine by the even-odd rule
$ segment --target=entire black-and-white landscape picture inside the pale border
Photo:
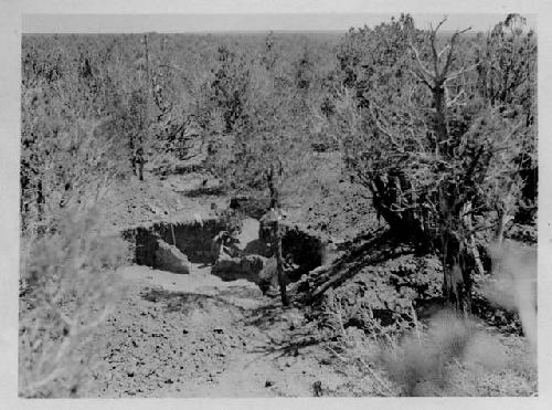
[[[408,6],[21,15],[20,400],[539,397],[539,17]]]

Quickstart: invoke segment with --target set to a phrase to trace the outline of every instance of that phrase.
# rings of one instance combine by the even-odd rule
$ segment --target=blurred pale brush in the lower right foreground
[[[331,313],[337,326],[327,336],[326,348],[341,372],[370,380],[365,395],[518,397],[535,392],[535,357],[519,337],[502,338],[450,311],[428,320],[413,315],[408,322],[413,326],[403,324],[397,329],[372,320],[361,330],[344,325],[341,307]]]

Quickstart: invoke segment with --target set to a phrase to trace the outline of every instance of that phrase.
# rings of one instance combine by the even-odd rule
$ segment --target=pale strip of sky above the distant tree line
[[[397,13],[227,13],[227,14],[23,14],[22,32],[46,33],[225,33],[225,32],[347,32],[351,28],[376,27],[397,20]],[[427,29],[442,13],[406,13],[418,29]],[[444,32],[467,27],[488,31],[506,19],[506,13],[449,13]],[[537,28],[537,17],[524,14]]]

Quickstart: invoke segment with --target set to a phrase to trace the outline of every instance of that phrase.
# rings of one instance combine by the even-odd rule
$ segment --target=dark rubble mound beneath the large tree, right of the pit
[[[320,323],[368,334],[380,326],[400,329],[445,308],[436,255],[416,254],[385,231],[341,246],[347,249],[342,256],[309,272],[295,287],[295,299],[310,306]],[[475,277],[473,314],[502,333],[522,335],[516,309],[491,303],[482,293],[479,285],[489,280],[490,274]]]

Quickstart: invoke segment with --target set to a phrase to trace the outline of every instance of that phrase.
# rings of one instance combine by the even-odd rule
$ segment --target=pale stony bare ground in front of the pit
[[[367,380],[338,372],[325,349],[300,343],[309,335],[298,309],[284,309],[254,283],[223,282],[209,271],[194,265],[190,275],[146,266],[119,272],[125,297],[96,335],[108,348],[92,396],[367,393]]]

